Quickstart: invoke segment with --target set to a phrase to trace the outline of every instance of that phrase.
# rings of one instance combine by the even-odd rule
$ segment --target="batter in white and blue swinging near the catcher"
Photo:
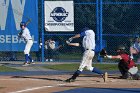
[[[73,76],[69,79],[66,80],[66,82],[73,82],[75,81],[75,79],[81,74],[81,72],[83,71],[84,68],[86,68],[87,70],[91,71],[91,72],[95,72],[97,74],[100,74],[103,76],[104,81],[107,80],[107,72],[103,73],[102,71],[100,71],[99,69],[92,67],[92,59],[95,55],[95,33],[93,30],[89,29],[89,28],[83,28],[82,32],[80,34],[76,34],[75,36],[69,38],[68,41],[66,41],[66,43],[68,45],[72,45],[72,46],[79,46],[79,43],[71,43],[71,41],[75,38],[80,38],[83,37],[83,41],[82,41],[82,46],[84,48],[84,53],[83,53],[83,58],[81,61],[81,64],[79,66],[79,69],[73,74]]]

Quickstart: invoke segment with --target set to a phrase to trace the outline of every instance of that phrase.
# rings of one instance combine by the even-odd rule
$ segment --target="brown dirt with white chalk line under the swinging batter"
[[[66,83],[70,75],[0,76],[0,93],[52,93],[76,88],[140,88],[140,80],[119,79],[109,75],[103,82],[98,75],[81,75]]]

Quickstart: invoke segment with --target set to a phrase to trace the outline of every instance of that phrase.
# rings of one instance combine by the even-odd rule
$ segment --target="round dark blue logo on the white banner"
[[[51,13],[50,17],[52,17],[56,22],[62,22],[68,16],[68,12],[63,7],[56,7]]]

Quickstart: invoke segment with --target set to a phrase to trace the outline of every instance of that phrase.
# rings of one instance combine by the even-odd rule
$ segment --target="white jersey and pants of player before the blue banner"
[[[24,38],[24,40],[26,42],[26,46],[25,46],[25,49],[24,49],[24,54],[29,55],[30,49],[33,45],[33,40],[32,40],[32,37],[30,35],[30,31],[27,27],[25,27],[21,36],[22,36],[22,38]]]

